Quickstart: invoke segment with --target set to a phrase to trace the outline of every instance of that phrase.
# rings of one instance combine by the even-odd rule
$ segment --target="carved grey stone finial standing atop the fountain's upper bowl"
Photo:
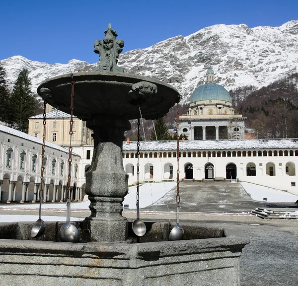
[[[122,67],[118,67],[118,57],[124,47],[124,41],[116,39],[118,36],[112,25],[108,25],[108,29],[104,31],[103,40],[94,42],[94,53],[99,54],[99,67],[95,67],[93,71],[118,71],[123,72]]]

